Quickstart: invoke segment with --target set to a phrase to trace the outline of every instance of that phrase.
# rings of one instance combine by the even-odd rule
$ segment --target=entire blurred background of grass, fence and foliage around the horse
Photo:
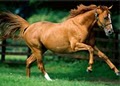
[[[120,69],[120,1],[119,0],[0,0],[0,12],[10,11],[25,18],[29,23],[38,21],[63,22],[71,9],[79,4],[111,6],[112,24],[115,34],[106,37],[105,32],[95,28],[96,45]],[[32,78],[25,75],[25,61],[31,54],[24,40],[11,38],[0,41],[0,86],[119,86],[109,66],[97,56],[93,72],[87,73],[89,54],[44,54],[46,70],[55,81],[47,82],[32,64]],[[70,58],[71,57],[71,58]],[[76,58],[76,59],[74,59]],[[40,74],[41,73],[41,74]],[[40,76],[40,77],[39,77]]]

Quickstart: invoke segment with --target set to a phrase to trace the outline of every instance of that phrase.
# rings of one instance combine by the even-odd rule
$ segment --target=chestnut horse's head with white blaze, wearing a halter
[[[114,32],[109,11],[111,8],[112,6],[98,6],[95,13],[98,26],[104,29],[107,36]]]

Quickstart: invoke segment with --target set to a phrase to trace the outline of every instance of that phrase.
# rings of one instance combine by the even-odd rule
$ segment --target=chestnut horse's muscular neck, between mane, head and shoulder
[[[81,14],[76,17],[77,21],[81,26],[86,27],[86,29],[91,29],[95,24],[95,11],[91,10],[84,14]]]

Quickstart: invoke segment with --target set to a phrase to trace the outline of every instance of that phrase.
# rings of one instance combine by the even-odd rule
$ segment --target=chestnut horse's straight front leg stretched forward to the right
[[[114,70],[116,75],[120,75],[120,71],[115,67],[115,65],[108,59],[108,57],[103,52],[101,52],[96,46],[94,47],[94,50],[95,54],[102,58],[109,65],[109,67]]]

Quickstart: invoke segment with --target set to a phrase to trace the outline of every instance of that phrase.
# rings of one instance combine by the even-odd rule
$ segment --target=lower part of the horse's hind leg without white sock
[[[34,57],[33,54],[29,58],[27,58],[27,60],[26,60],[26,74],[28,77],[30,77],[30,65],[34,61],[36,61],[36,58]]]

